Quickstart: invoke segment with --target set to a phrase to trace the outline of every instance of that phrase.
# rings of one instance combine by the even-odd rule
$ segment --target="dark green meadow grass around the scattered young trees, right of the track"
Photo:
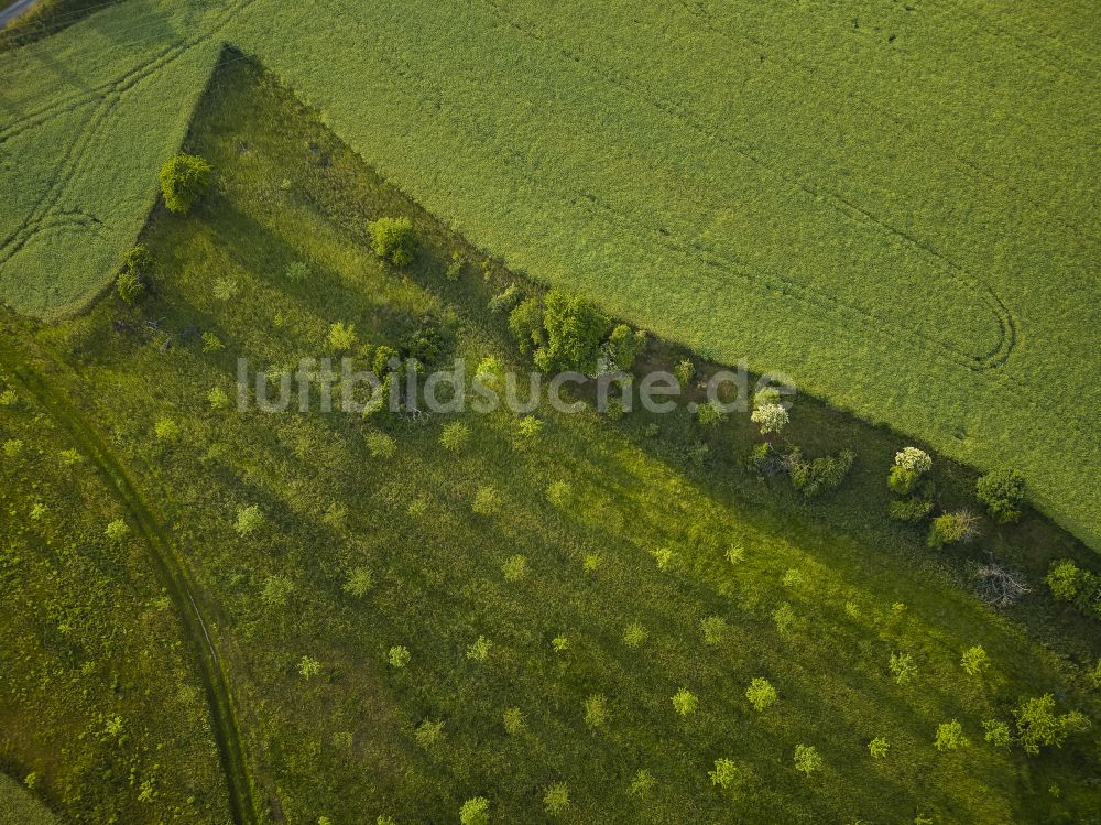
[[[232,394],[235,355],[254,363],[317,355],[334,321],[393,343],[432,310],[451,318],[470,360],[513,360],[500,319],[487,322],[482,308],[505,275],[486,283],[467,271],[459,283],[445,281],[461,242],[270,83],[257,91],[252,82],[233,64],[188,140],[220,170],[218,192],[190,218],[157,214],[146,234],[163,267],[144,317],[163,318],[175,346],[162,351],[163,336],[113,298],[43,330],[39,343],[73,354],[83,379],[70,391],[161,490],[200,585],[220,603],[222,630],[239,651],[231,677],[258,723],[250,745],[290,822],[386,812],[399,822],[448,821],[479,793],[500,821],[527,822],[553,781],[569,784],[576,822],[881,822],[919,810],[937,822],[1086,821],[1095,797],[1084,781],[1091,738],[1026,759],[982,743],[979,723],[1007,718],[1022,695],[1044,691],[1095,716],[1095,697],[1075,666],[956,587],[953,567],[929,560],[919,536],[885,525],[882,470],[898,445],[883,433],[854,433],[833,415],[815,425],[815,441],[798,430],[808,426],[800,411],[817,417],[821,408],[796,408],[794,437],[820,448],[857,438],[870,465],[837,501],[799,508],[731,468],[730,439],[743,446],[750,437],[743,420],[715,441],[718,460],[695,470],[677,455],[709,436],[683,419],[664,420],[662,435],[644,441],[641,421],[612,427],[591,414],[542,411],[546,431],[517,447],[511,416],[467,416],[473,438],[459,455],[438,446],[444,421],[386,421],[397,453],[380,460],[356,420],[210,410],[208,389]],[[366,218],[405,211],[427,241],[412,278],[380,267],[362,230]],[[295,260],[309,262],[312,282],[282,278]],[[211,284],[227,279],[237,297],[219,301]],[[133,325],[121,336],[110,329],[120,314]],[[227,351],[203,355],[195,337],[181,337],[187,327],[217,332]],[[162,417],[181,425],[178,442],[156,442],[152,424]],[[957,470],[941,471],[952,490]],[[573,485],[563,509],[544,495],[559,479]],[[471,512],[481,485],[503,497],[494,515]],[[260,504],[269,521],[242,540],[232,521],[246,503]],[[335,503],[347,508],[342,525],[321,519]],[[1020,552],[1002,534],[993,539]],[[745,549],[740,565],[724,558],[731,544]],[[677,553],[673,571],[650,555],[666,546]],[[509,584],[501,564],[514,553],[527,556],[531,574]],[[592,553],[602,564],[586,573]],[[341,585],[359,565],[372,571],[374,588],[355,599]],[[272,576],[293,584],[285,604],[262,599]],[[772,620],[784,603],[797,617],[787,634]],[[1040,632],[1097,654],[1088,626],[1042,598],[1035,607]],[[700,637],[711,615],[731,625],[718,647]],[[650,631],[639,650],[621,641],[635,620]],[[571,642],[565,655],[549,648],[558,633]],[[494,645],[481,665],[465,658],[479,634]],[[984,680],[961,675],[960,650],[972,643],[994,661]],[[384,663],[393,644],[413,651],[405,671]],[[890,680],[896,651],[916,655],[916,683]],[[323,663],[308,682],[296,672],[306,654]],[[756,675],[781,694],[762,716],[742,695]],[[700,697],[687,720],[669,703],[680,686]],[[597,693],[611,721],[593,731],[582,703]],[[527,717],[519,739],[501,726],[510,706]],[[937,753],[934,729],[953,717],[974,745]],[[444,720],[447,739],[423,751],[412,731],[426,718]],[[877,735],[893,746],[882,762],[865,750]],[[821,750],[822,775],[793,770],[798,742]],[[741,771],[730,795],[706,773],[723,756]],[[626,783],[643,767],[659,785],[637,800]],[[1054,783],[1058,799],[1048,793]]]

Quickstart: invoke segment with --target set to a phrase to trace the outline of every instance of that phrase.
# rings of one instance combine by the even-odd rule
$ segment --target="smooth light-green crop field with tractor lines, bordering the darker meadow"
[[[232,8],[210,45],[259,54],[388,177],[515,268],[720,360],[783,369],[957,458],[1020,466],[1044,508],[1098,545],[1101,502],[1079,469],[1101,460],[1099,386],[1080,357],[1099,328],[1082,297],[1098,209],[1084,4],[640,15],[432,0],[367,17],[327,0],[286,20],[263,0]],[[0,107],[11,118],[67,94],[61,66],[118,74],[211,26],[194,4],[108,10],[6,56],[17,83]],[[201,52],[141,96],[139,110],[164,106],[148,112],[160,128],[113,115],[99,127],[105,176],[59,203],[102,225],[66,219],[0,265],[10,303],[52,314],[105,282],[152,203],[185,88],[204,83]],[[64,142],[84,111],[6,144],[32,162],[6,167],[20,197],[4,231],[48,180],[34,146]],[[120,167],[141,182],[123,198]],[[75,249],[80,271],[59,291],[25,278],[69,271]],[[1076,402],[1048,403],[1053,386]]]

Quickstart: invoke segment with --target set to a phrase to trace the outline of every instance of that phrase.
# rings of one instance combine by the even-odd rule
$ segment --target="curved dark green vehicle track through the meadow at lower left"
[[[253,795],[229,683],[198,603],[192,595],[187,572],[172,538],[162,525],[153,507],[146,503],[138,491],[126,466],[115,456],[99,433],[61,392],[51,386],[47,379],[33,368],[21,363],[21,359],[2,340],[0,340],[0,363],[62,428],[68,431],[80,452],[95,464],[108,490],[122,504],[138,528],[150,551],[153,567],[172,597],[184,627],[184,634],[199,664],[199,679],[210,705],[214,737],[226,775],[233,822],[237,825],[254,825],[263,822]]]

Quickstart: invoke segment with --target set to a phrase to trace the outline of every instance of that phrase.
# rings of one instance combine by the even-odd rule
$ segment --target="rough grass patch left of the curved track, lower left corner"
[[[0,458],[0,764],[37,773],[66,821],[140,822],[155,805],[221,823],[206,699],[138,525],[120,544],[103,535],[126,508],[89,456],[63,460],[83,445],[7,371],[7,341],[2,355],[19,402],[0,406],[0,443],[22,449]],[[146,789],[154,803],[139,800]]]

